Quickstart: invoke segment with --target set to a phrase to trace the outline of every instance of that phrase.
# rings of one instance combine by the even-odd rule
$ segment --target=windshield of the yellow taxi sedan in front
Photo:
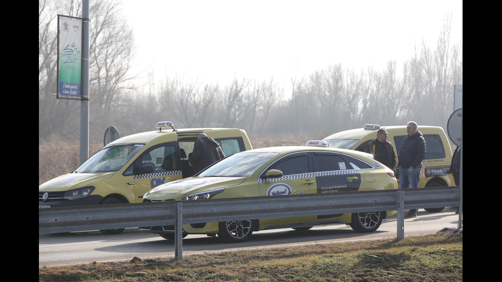
[[[248,177],[278,153],[242,152],[213,164],[201,171],[198,177]]]

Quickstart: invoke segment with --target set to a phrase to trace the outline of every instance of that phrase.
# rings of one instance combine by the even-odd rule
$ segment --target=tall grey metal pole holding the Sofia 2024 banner
[[[80,163],[89,158],[89,0],[82,1],[82,91],[80,96]]]

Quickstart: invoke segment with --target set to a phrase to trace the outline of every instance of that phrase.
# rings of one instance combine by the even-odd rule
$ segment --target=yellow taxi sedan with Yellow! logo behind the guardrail
[[[306,146],[253,149],[214,163],[191,178],[160,185],[144,194],[144,202],[200,201],[234,197],[280,197],[290,194],[396,189],[392,170],[370,155],[324,147],[324,141]],[[319,144],[324,144],[319,146]],[[312,146],[310,146],[312,145]],[[323,214],[294,218],[184,224],[183,236],[207,234],[225,242],[242,242],[253,231],[277,228],[309,229],[315,225],[348,224],[357,232],[373,232],[395,211]],[[140,227],[174,239],[174,226]]]

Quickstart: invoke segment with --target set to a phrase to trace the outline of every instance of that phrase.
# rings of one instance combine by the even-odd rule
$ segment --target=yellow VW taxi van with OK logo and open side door
[[[176,129],[169,121],[156,127],[158,131],[119,138],[73,172],[38,186],[38,207],[141,203],[150,189],[193,175],[188,157],[200,133],[218,141],[225,156],[252,149],[246,132],[238,128]]]

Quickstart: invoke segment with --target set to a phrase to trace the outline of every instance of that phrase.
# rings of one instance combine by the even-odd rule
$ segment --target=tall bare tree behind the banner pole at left
[[[90,129],[100,134],[113,120],[127,118],[134,99],[134,75],[129,73],[135,50],[132,29],[123,21],[120,2],[96,0],[90,7]],[[81,0],[38,2],[39,137],[78,134],[79,101],[57,100],[57,14],[81,16]],[[77,115],[78,116],[78,115]],[[95,129],[94,129],[95,128]]]

